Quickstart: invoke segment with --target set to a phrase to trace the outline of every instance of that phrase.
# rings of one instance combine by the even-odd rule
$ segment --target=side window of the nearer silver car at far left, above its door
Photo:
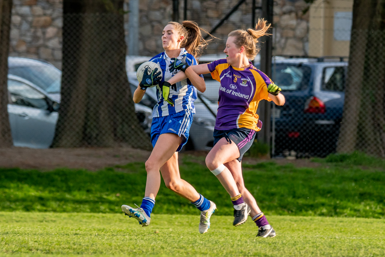
[[[48,109],[45,95],[22,82],[8,79],[8,92],[10,93],[10,104]]]

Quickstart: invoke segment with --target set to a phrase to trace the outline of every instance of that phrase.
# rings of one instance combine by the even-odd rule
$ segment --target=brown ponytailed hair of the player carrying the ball
[[[206,49],[208,43],[213,40],[203,39],[202,32],[208,34],[212,38],[216,38],[209,34],[207,30],[200,28],[198,24],[192,20],[184,20],[182,24],[171,21],[168,24],[173,25],[179,34],[184,36],[181,47],[184,47],[186,51],[192,54],[195,58],[201,56],[203,49]]]

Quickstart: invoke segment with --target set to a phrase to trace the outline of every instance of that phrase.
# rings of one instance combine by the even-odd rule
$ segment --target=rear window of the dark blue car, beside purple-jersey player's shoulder
[[[311,68],[301,64],[273,64],[271,79],[282,90],[305,90],[310,74]]]

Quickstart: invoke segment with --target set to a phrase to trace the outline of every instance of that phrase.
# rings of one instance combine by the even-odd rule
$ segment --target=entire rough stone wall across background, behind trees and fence
[[[126,0],[128,2],[129,0]],[[180,1],[180,16],[183,16]],[[187,19],[195,20],[211,30],[238,0],[189,0]],[[260,0],[256,1],[260,5]],[[62,60],[63,0],[13,0],[10,56],[44,59],[59,69]],[[125,4],[125,8],[128,4]],[[303,0],[274,1],[273,44],[275,55],[308,53],[309,15],[303,14]],[[154,56],[163,51],[162,29],[172,19],[172,1],[141,0],[139,6],[138,55]],[[256,12],[258,19],[258,11]],[[126,21],[128,21],[126,15]],[[251,27],[251,0],[243,3],[214,33],[219,39],[212,42],[205,54],[223,52],[227,34],[234,29]],[[128,26],[125,26],[129,29]],[[127,34],[127,32],[126,32]]]

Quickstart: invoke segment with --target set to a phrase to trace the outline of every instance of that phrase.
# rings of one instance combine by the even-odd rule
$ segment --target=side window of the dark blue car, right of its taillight
[[[346,67],[326,67],[322,73],[322,90],[344,91]]]

